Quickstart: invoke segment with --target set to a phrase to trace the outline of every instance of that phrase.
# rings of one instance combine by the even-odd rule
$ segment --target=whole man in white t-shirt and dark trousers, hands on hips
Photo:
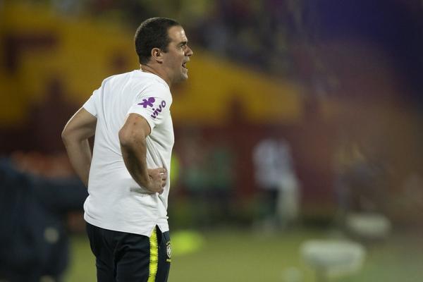
[[[106,78],[62,133],[88,187],[84,217],[97,281],[167,281],[171,262],[170,87],[188,78],[192,50],[183,27],[168,18],[145,20],[135,49],[141,69]]]

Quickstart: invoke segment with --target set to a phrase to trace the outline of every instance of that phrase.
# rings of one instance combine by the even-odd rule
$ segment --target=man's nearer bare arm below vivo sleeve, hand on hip
[[[145,138],[150,131],[145,118],[139,114],[129,114],[125,124],[119,130],[119,141],[121,142],[123,161],[130,176],[149,192],[161,193],[166,185],[166,169],[147,169]]]

